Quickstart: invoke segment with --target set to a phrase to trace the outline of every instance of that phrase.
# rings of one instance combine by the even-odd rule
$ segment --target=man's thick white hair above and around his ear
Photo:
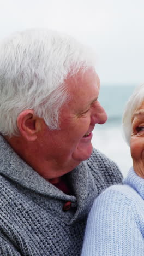
[[[75,39],[49,30],[17,32],[0,44],[0,132],[19,135],[25,109],[59,127],[59,109],[69,95],[64,80],[95,65],[95,55]]]

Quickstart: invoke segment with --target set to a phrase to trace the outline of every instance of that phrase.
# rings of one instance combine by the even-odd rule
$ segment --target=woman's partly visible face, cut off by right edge
[[[130,150],[134,170],[144,178],[144,102],[133,114]]]

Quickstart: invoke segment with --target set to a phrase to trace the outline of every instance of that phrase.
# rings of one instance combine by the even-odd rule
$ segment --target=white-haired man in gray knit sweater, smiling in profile
[[[91,51],[28,30],[0,46],[0,254],[80,255],[95,197],[121,182],[92,148],[107,116]]]

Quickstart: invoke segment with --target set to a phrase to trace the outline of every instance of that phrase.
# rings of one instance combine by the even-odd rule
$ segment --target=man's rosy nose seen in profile
[[[107,114],[101,104],[97,101],[97,104],[91,113],[91,124],[104,124],[106,120]]]

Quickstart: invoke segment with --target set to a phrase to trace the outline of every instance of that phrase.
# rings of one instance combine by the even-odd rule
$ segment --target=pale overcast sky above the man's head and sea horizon
[[[143,0],[0,0],[0,39],[27,28],[63,31],[90,46],[103,85],[144,82]]]

